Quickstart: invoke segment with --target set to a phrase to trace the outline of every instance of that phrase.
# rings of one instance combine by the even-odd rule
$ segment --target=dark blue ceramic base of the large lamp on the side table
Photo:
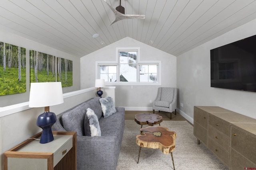
[[[56,115],[53,112],[47,111],[38,116],[36,125],[43,129],[40,143],[48,143],[54,140],[51,128],[55,122]]]

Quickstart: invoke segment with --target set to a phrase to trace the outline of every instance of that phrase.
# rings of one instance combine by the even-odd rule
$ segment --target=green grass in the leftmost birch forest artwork
[[[0,96],[26,92],[26,68],[21,69],[19,81],[18,68],[6,68],[0,66]]]

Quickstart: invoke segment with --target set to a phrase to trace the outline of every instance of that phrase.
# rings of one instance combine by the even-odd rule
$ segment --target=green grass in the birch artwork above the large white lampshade
[[[56,81],[55,72],[54,72],[54,75],[52,75],[52,72],[49,72],[49,74],[47,74],[46,70],[42,70],[40,72],[38,71],[37,79],[38,79],[38,82],[55,82]],[[59,81],[59,78],[57,78],[57,80]],[[30,82],[36,82],[34,69],[30,69]],[[67,84],[66,84],[65,72],[62,72],[61,84],[62,84],[62,87],[73,86],[73,73],[67,72]]]

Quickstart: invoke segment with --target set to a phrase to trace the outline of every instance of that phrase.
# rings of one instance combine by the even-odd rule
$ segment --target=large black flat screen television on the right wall
[[[210,50],[211,87],[256,92],[256,35]]]

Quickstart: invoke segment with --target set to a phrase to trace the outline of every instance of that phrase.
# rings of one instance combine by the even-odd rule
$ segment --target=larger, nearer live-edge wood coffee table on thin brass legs
[[[174,160],[172,151],[175,149],[175,139],[177,137],[176,132],[169,131],[167,127],[146,127],[140,129],[142,135],[136,136],[136,143],[140,146],[138,162],[140,159],[141,148],[160,149],[164,154],[171,153],[172,164],[174,166]]]

